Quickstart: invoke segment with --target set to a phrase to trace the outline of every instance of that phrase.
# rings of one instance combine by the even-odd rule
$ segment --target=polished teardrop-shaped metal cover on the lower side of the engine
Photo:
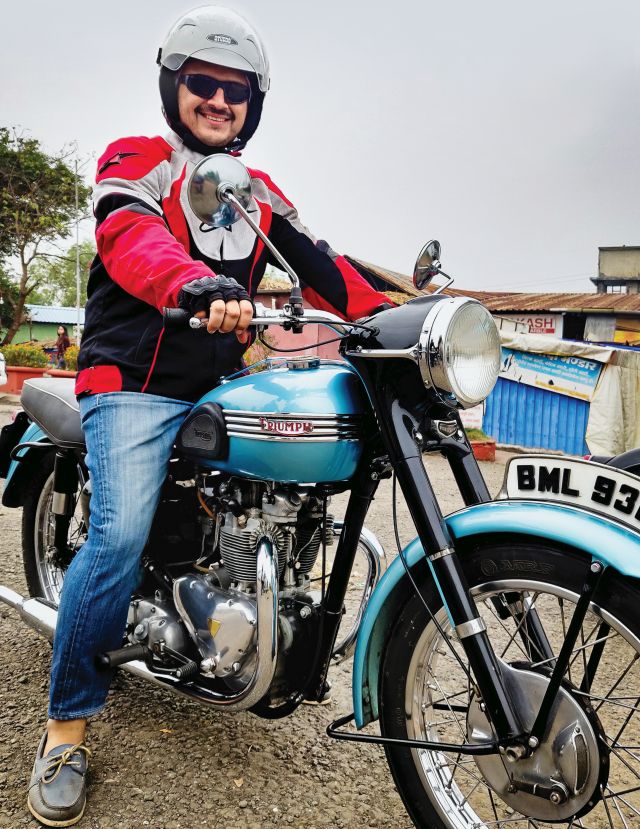
[[[225,679],[241,673],[255,650],[255,601],[240,591],[222,590],[200,574],[176,579],[173,600],[202,657],[203,672]]]

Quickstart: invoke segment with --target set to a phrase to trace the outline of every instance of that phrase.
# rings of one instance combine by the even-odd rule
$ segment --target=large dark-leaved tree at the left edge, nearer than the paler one
[[[17,301],[2,344],[10,343],[25,319],[25,304],[42,274],[34,267],[51,255],[51,244],[69,234],[87,206],[90,190],[78,182],[70,152],[47,154],[35,138],[0,128],[0,264],[17,261]]]

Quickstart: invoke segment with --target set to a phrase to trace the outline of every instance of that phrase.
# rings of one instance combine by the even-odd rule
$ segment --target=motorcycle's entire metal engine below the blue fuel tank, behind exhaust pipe
[[[147,645],[159,660],[189,660],[192,673],[241,688],[255,667],[257,549],[267,536],[278,566],[277,684],[315,614],[312,570],[323,540],[334,540],[329,498],[314,487],[219,473],[190,483],[199,503],[200,556],[174,577],[172,595],[158,590],[155,600],[132,602],[129,640]]]

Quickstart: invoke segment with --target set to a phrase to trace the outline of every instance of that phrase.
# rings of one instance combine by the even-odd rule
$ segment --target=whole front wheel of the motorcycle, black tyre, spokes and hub
[[[530,728],[553,667],[553,658],[540,653],[539,629],[530,635],[534,612],[557,655],[590,560],[573,549],[519,538],[478,544],[462,561],[510,697]],[[411,596],[385,647],[382,733],[455,744],[490,740],[468,660],[438,591],[430,581],[421,592],[424,601]],[[414,824],[423,829],[640,825],[639,656],[640,584],[607,571],[546,734],[530,758],[386,748]]]

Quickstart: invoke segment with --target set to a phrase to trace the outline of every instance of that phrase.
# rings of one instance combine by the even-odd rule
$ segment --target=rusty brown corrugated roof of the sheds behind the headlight
[[[390,286],[407,294],[409,297],[420,296],[431,293],[418,291],[413,287],[411,278],[373,265],[361,259],[347,256],[354,265],[371,271],[376,276],[385,280]],[[568,311],[573,313],[615,313],[615,314],[639,314],[640,294],[541,294],[541,293],[515,293],[511,291],[465,291],[459,288],[448,288],[444,291],[450,296],[468,296],[482,302],[490,311],[496,313],[512,312],[547,312],[561,313]]]

